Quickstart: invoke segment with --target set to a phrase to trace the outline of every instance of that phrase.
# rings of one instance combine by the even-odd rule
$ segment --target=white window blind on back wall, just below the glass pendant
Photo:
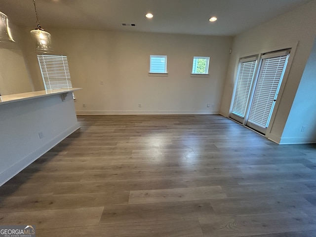
[[[39,54],[38,60],[45,90],[69,89],[73,87],[67,56]]]

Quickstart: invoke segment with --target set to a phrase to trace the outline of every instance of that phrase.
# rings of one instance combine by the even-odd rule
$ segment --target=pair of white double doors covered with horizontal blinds
[[[259,71],[257,77],[254,77],[256,69],[248,67],[247,82],[244,82],[243,77],[240,76],[242,75],[241,70],[245,62],[239,62],[237,82],[231,106],[231,118],[266,134],[288,57],[289,51],[262,55],[259,69],[257,70]],[[248,59],[246,62],[248,65],[254,63],[253,59]],[[244,91],[241,93],[243,96],[239,96],[240,91],[242,91],[241,88],[244,88]],[[238,112],[238,108],[240,108],[240,112]]]

